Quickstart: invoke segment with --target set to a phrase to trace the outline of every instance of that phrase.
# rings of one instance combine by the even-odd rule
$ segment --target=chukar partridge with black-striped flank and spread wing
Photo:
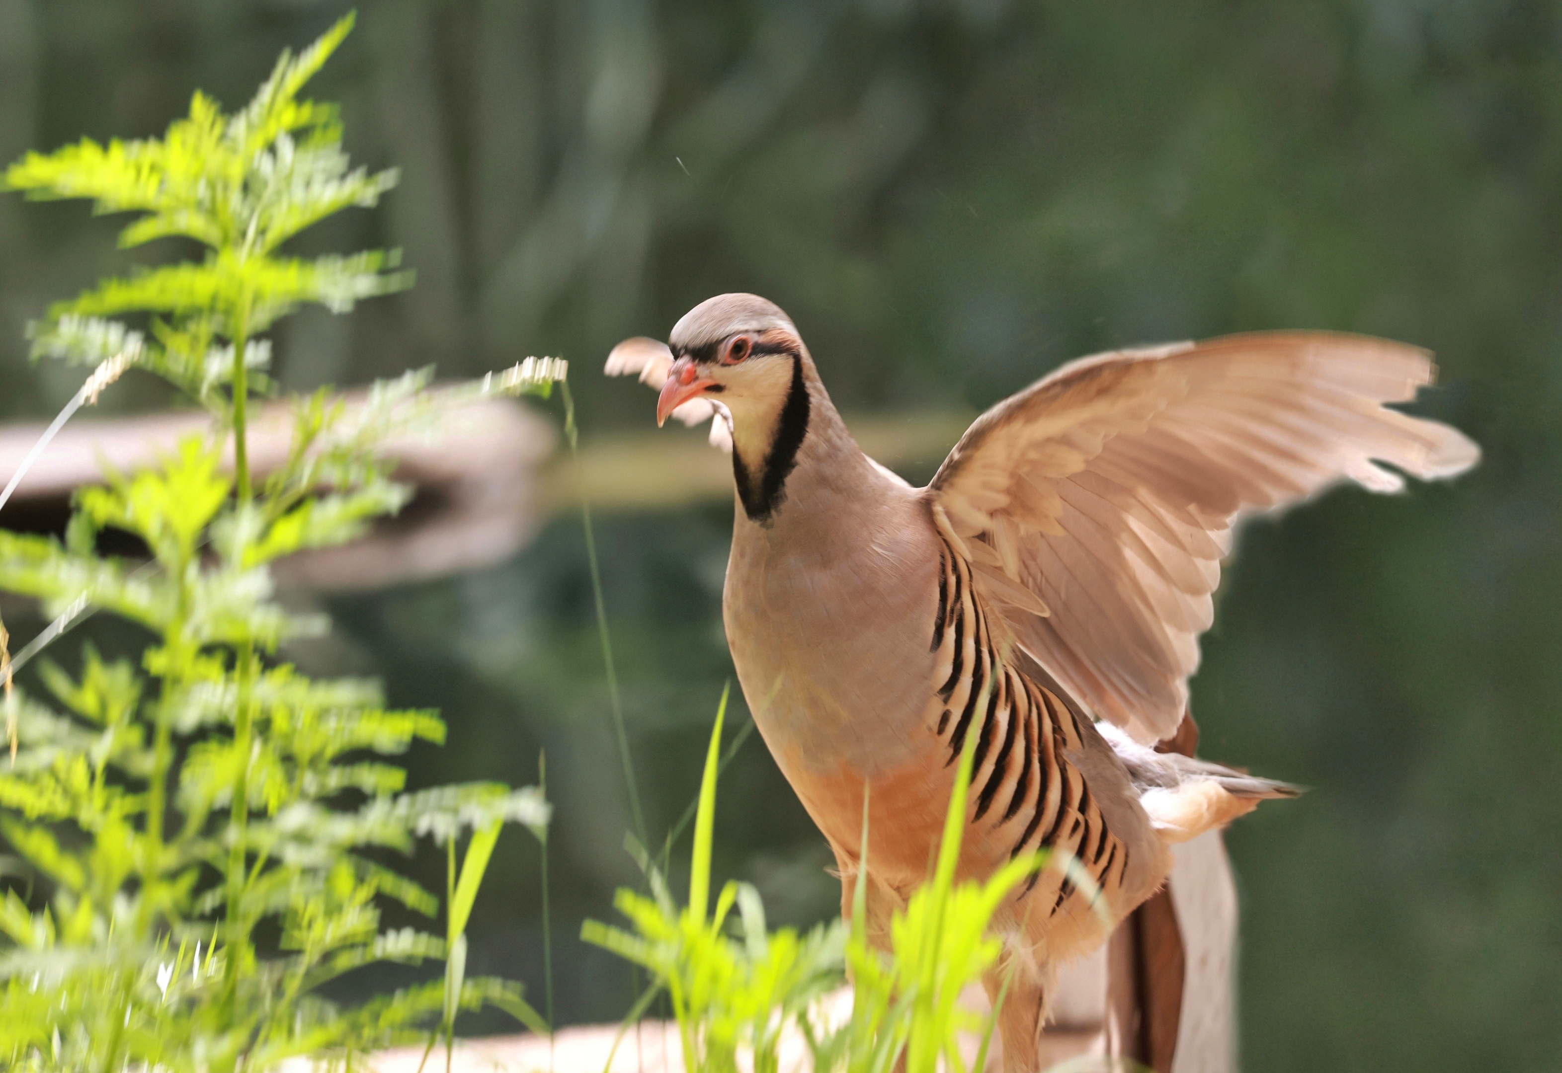
[[[836,853],[843,909],[868,790],[867,926],[887,942],[973,737],[959,875],[1053,851],[993,920],[1014,971],[1009,1071],[1037,1065],[1054,967],[1156,892],[1168,843],[1295,793],[1151,748],[1187,706],[1232,525],[1346,478],[1401,489],[1379,462],[1437,479],[1479,458],[1459,431],[1384,408],[1431,383],[1428,355],[1361,336],[1075,361],[982,414],[926,487],[858,448],[764,298],[711,298],[667,345],[620,344],[608,372],[661,389],[658,423],[714,419],[712,440],[729,440],[726,637]]]

